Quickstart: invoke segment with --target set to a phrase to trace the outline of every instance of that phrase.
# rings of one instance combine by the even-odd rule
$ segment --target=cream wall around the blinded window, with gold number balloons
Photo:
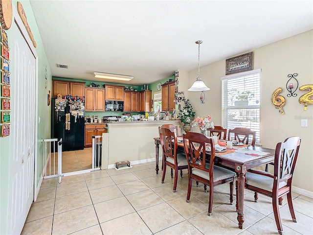
[[[313,84],[313,30],[251,49],[253,69],[261,69],[260,136],[264,147],[275,148],[277,142],[291,136],[300,136],[301,147],[293,177],[293,186],[313,192],[313,105],[298,103],[298,98],[308,91],[299,91],[296,97],[287,97],[286,83],[290,73],[298,73],[299,86]],[[249,51],[243,51],[244,54]],[[236,56],[236,55],[234,55]],[[227,59],[227,58],[225,58]],[[205,104],[200,104],[199,92],[187,92],[196,80],[198,70],[189,71],[187,93],[195,108],[196,116],[211,115],[216,125],[222,124],[221,80],[225,76],[225,59],[201,67],[200,76],[211,88],[205,92]],[[179,74],[180,77],[180,74]],[[179,86],[185,81],[179,80]],[[183,85],[182,85],[183,86]],[[285,114],[282,115],[271,103],[271,94],[281,87],[286,98]],[[308,119],[308,127],[301,127],[301,119]]]

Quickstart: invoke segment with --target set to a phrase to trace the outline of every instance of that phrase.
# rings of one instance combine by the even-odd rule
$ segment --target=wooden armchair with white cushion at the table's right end
[[[246,173],[245,188],[272,198],[274,217],[279,234],[283,234],[278,206],[279,198],[286,194],[292,221],[297,222],[292,205],[291,181],[300,143],[299,137],[290,137],[284,142],[277,143],[273,174],[261,170],[248,170]]]

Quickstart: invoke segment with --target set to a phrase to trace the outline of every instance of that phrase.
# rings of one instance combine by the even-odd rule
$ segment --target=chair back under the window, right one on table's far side
[[[228,130],[228,141],[231,141],[233,139],[235,141],[254,146],[255,135],[256,135],[256,132],[251,131],[249,128],[236,127],[234,129]],[[250,139],[250,137],[252,138],[252,140]]]

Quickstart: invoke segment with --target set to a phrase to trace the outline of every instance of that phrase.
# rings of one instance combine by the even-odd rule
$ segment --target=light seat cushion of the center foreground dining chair
[[[210,164],[205,164],[205,168],[208,169],[209,166]],[[202,177],[203,179],[210,180],[209,172],[200,170],[198,168],[192,168],[192,174],[198,175]],[[214,165],[213,167],[213,182],[224,180],[224,179],[235,177],[235,176],[236,176],[236,173],[231,170],[227,170],[217,165]]]

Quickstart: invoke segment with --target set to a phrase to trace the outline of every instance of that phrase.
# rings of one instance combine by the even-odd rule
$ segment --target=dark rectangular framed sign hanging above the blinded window
[[[253,69],[253,52],[226,60],[226,75]]]

